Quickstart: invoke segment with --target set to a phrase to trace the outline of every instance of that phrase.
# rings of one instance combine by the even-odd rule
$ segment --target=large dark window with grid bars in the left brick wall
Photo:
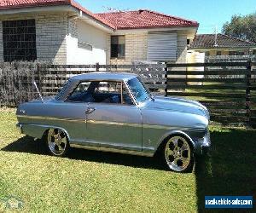
[[[3,21],[3,60],[37,60],[35,20]]]

